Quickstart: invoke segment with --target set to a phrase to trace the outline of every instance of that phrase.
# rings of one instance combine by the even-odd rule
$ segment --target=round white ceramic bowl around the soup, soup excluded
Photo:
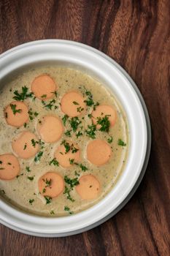
[[[144,109],[132,81],[108,56],[87,45],[56,39],[12,48],[0,56],[0,86],[1,79],[16,69],[47,61],[80,69],[107,85],[125,109],[131,141],[128,162],[117,184],[103,200],[88,210],[69,217],[37,217],[0,201],[0,222],[4,225],[34,236],[66,236],[103,222],[127,200],[142,173],[146,152],[148,155],[148,132]]]

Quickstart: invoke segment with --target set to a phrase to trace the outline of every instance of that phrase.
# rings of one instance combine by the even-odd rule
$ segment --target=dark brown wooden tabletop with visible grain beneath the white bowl
[[[0,255],[170,255],[170,1],[0,0],[0,53],[36,39],[71,39],[115,59],[150,113],[142,184],[112,219],[77,236],[36,238],[0,225]]]

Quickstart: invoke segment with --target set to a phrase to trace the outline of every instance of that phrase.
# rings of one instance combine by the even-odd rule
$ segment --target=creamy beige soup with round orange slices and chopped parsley
[[[128,154],[120,103],[95,78],[55,65],[26,69],[0,94],[1,198],[61,217],[98,203]]]

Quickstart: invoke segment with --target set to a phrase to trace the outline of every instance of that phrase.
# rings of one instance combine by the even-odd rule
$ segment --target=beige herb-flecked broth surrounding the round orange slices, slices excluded
[[[10,102],[15,101],[12,98],[15,96],[14,91],[18,90],[18,92],[21,92],[22,86],[26,86],[28,92],[31,92],[32,81],[42,74],[50,75],[53,78],[57,85],[57,93],[54,94],[52,99],[47,100],[43,100],[43,97],[42,100],[38,99],[34,97],[34,94],[32,97],[27,97],[23,102],[28,106],[31,113],[29,116],[32,116],[32,120],[29,118],[27,124],[19,128],[8,125],[4,117],[4,108]],[[80,124],[78,124],[76,131],[74,131],[75,127],[72,127],[70,122],[72,118],[64,118],[66,114],[61,111],[61,99],[69,91],[79,92],[86,100],[86,110],[82,110],[80,116],[77,116]],[[89,91],[90,94],[87,93]],[[90,105],[89,99],[93,99],[93,105]],[[109,127],[109,132],[101,131],[97,128],[92,132],[91,126],[93,122],[91,113],[93,108],[97,108],[98,103],[96,102],[99,105],[112,106],[116,111],[115,125]],[[88,103],[89,105],[87,105]],[[48,106],[49,104],[50,107]],[[79,108],[78,105],[77,108]],[[45,143],[41,140],[39,151],[42,152],[42,155],[38,161],[35,162],[37,154],[29,159],[22,159],[17,156],[20,162],[20,173],[18,173],[18,176],[11,180],[0,179],[1,197],[4,197],[12,205],[33,214],[61,217],[76,214],[93,206],[114,187],[127,160],[129,144],[128,124],[120,103],[117,102],[112,92],[106,89],[98,80],[84,72],[68,67],[51,65],[28,69],[22,74],[13,77],[10,82],[2,86],[0,109],[0,154],[12,153],[16,156],[12,149],[12,140],[20,132],[30,131],[37,138],[41,139],[36,126],[41,122],[42,116],[58,116],[63,123],[63,135],[58,141]],[[109,161],[100,166],[93,165],[87,159],[88,143],[96,139],[104,140],[112,152]],[[72,163],[70,167],[54,165],[53,159],[56,148],[61,146],[63,140],[71,140],[80,148],[80,161],[78,164],[70,159]],[[38,187],[39,178],[47,172],[58,173],[64,180],[64,189],[61,194],[50,200],[45,198],[42,192],[39,192]],[[81,176],[88,174],[96,177],[100,184],[98,196],[90,200],[80,197],[76,190],[77,181],[80,180]],[[70,183],[70,180],[74,180],[74,182]]]

